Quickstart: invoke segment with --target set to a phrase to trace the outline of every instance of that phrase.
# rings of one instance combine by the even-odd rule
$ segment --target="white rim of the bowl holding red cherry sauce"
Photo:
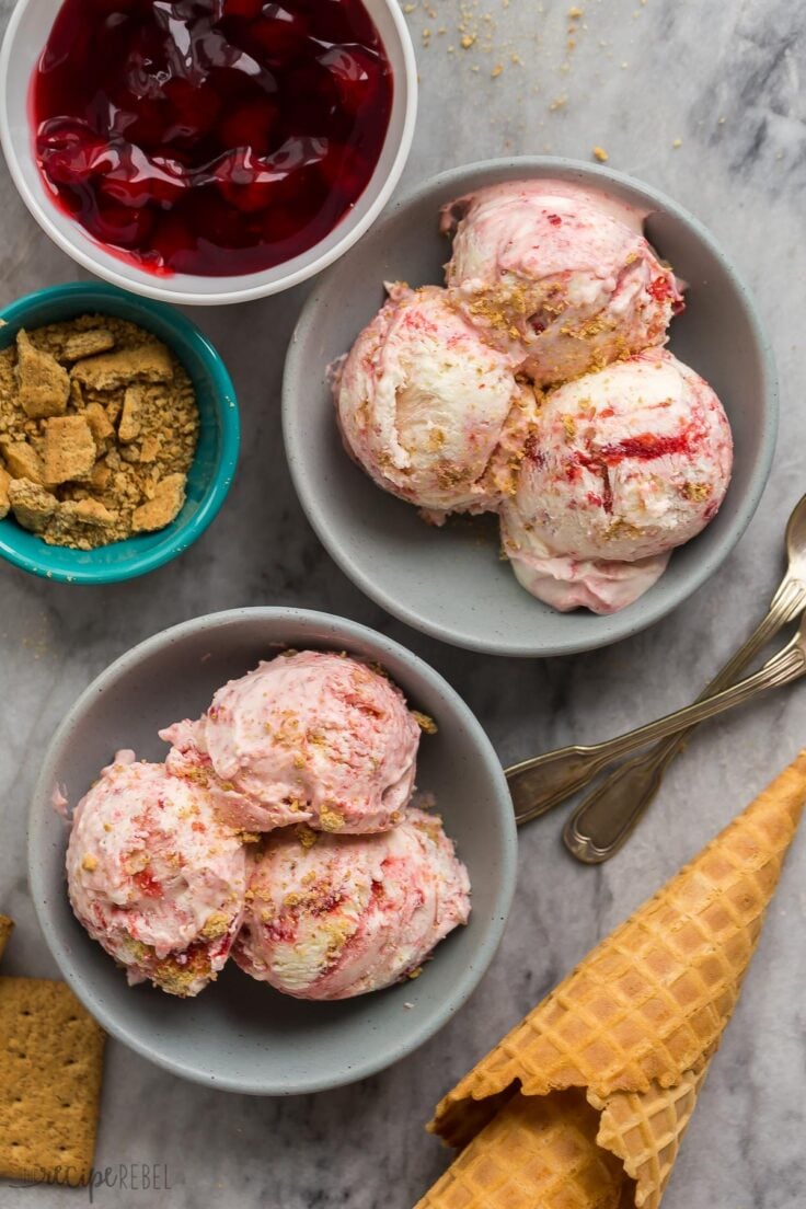
[[[135,278],[126,277],[123,273],[117,272],[112,265],[95,259],[88,251],[85,251],[82,247],[75,244],[68,235],[60,230],[60,227],[53,221],[48,209],[40,206],[39,199],[28,187],[28,181],[25,180],[21,168],[16,144],[11,137],[11,128],[8,125],[8,116],[4,98],[6,93],[8,63],[13,54],[17,30],[23,16],[30,5],[35,2],[36,0],[17,0],[6,27],[2,46],[0,46],[0,146],[2,146],[6,164],[8,166],[8,172],[17,192],[25,203],[29,213],[39,222],[40,227],[45,231],[48,238],[51,238],[53,243],[62,249],[62,251],[65,251],[71,260],[81,265],[82,268],[87,268],[91,273],[95,273],[104,280],[111,282],[112,285],[120,285],[122,289],[131,290],[133,294],[141,294],[144,297],[158,299],[162,302],[174,302],[180,306],[227,306],[233,302],[249,302],[254,299],[268,297],[272,294],[280,294],[284,290],[291,289],[294,285],[298,285],[301,282],[308,280],[311,277],[315,277],[317,273],[320,273],[324,268],[327,268],[329,265],[332,265],[336,260],[343,256],[344,253],[358,243],[361,236],[369,231],[392,197],[392,193],[402,175],[402,170],[406,167],[406,161],[408,160],[412,140],[414,138],[419,85],[414,47],[408,25],[406,24],[406,19],[402,15],[402,10],[396,0],[381,0],[381,2],[388,8],[398,37],[400,39],[400,51],[405,64],[406,76],[406,109],[404,114],[400,143],[398,145],[392,167],[387,179],[383,181],[375,201],[367,208],[364,218],[360,219],[360,221],[356,222],[352,230],[346,232],[344,237],[338,239],[329,251],[323,253],[320,256],[315,256],[308,265],[303,265],[294,273],[278,277],[276,280],[268,283],[245,285],[243,289],[230,290],[228,293],[209,294],[205,293],[203,285],[204,282],[213,279],[209,277],[198,277],[198,291],[172,290],[170,288],[160,284],[161,280],[169,280],[170,278],[155,277],[150,273],[140,272],[139,270],[135,270],[138,274]],[[65,231],[70,229],[70,226],[65,226]],[[309,250],[313,251],[313,248]],[[260,276],[260,273],[244,274],[244,280],[249,277],[257,276]]]

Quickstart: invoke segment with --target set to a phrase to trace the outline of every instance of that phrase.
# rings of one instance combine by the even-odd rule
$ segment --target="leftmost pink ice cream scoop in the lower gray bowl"
[[[198,995],[224,967],[244,907],[249,857],[214,798],[121,751],[76,806],[66,854],[73,909],[126,968]]]

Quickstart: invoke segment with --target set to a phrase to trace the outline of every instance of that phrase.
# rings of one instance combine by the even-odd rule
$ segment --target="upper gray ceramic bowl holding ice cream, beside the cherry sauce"
[[[383,301],[382,282],[439,283],[448,244],[439,208],[469,190],[552,177],[590,184],[650,212],[646,233],[688,282],[688,310],[669,347],[720,395],[736,446],[733,479],[713,523],[672,556],[640,600],[611,617],[556,613],[498,560],[494,521],[424,525],[344,453],[327,363],[346,352]],[[775,447],[777,386],[770,348],[747,287],[696,219],[620,173],[569,160],[518,158],[457,168],[398,202],[317,285],[291,341],[284,383],[285,449],[302,507],[341,568],[367,596],[418,630],[472,650],[558,655],[636,634],[691,595],[727,556],[761,497]]]

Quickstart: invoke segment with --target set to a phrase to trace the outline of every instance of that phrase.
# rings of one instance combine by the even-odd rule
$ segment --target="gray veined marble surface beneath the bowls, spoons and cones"
[[[220,519],[179,562],[131,584],[88,590],[0,569],[0,909],[18,921],[6,972],[57,973],[25,881],[25,814],[44,745],[97,672],[166,625],[261,603],[359,619],[447,676],[511,762],[604,737],[684,704],[766,607],[781,571],[783,526],[806,485],[806,13],[783,0],[580,6],[570,47],[567,0],[406,5],[422,74],[406,181],[504,154],[588,160],[598,145],[613,167],[668,191],[712,229],[755,290],[781,372],[773,478],[750,528],[692,600],[628,642],[544,663],[450,649],[366,601],[325,555],[296,503],[280,444],[279,384],[305,291],[202,310],[193,317],[230,364],[244,424],[240,472]],[[0,0],[4,18],[10,7]],[[468,50],[463,33],[477,35]],[[28,216],[5,169],[0,214],[0,300],[77,276]],[[806,689],[799,687],[711,724],[673,768],[630,846],[601,869],[566,855],[558,816],[532,825],[521,835],[509,929],[480,989],[429,1045],[365,1083],[296,1100],[239,1098],[182,1083],[110,1043],[97,1163],[166,1164],[170,1192],[99,1190],[98,1203],[407,1209],[446,1162],[422,1132],[442,1092],[805,739]],[[665,1209],[804,1203],[805,877],[801,835]],[[4,1209],[50,1209],[85,1196],[0,1184]]]

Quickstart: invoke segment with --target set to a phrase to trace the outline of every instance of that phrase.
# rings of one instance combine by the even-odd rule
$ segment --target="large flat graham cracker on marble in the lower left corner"
[[[87,1184],[104,1042],[64,983],[0,977],[0,1176]]]

